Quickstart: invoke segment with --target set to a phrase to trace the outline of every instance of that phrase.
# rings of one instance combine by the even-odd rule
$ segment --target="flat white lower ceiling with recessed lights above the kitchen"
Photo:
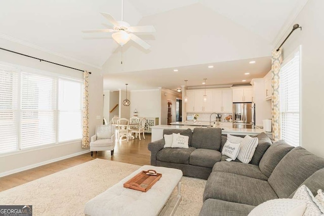
[[[256,63],[249,64],[252,60]],[[214,68],[208,68],[210,65]],[[157,89],[157,87],[176,90],[181,89],[185,79],[188,80],[189,87],[203,86],[201,83],[204,78],[207,78],[207,85],[249,84],[252,78],[264,77],[271,69],[270,65],[271,59],[262,57],[138,72],[109,73],[104,74],[103,88],[116,91],[125,89],[125,84],[128,83],[129,90]],[[174,72],[174,69],[178,71]],[[250,74],[245,75],[247,72]]]

